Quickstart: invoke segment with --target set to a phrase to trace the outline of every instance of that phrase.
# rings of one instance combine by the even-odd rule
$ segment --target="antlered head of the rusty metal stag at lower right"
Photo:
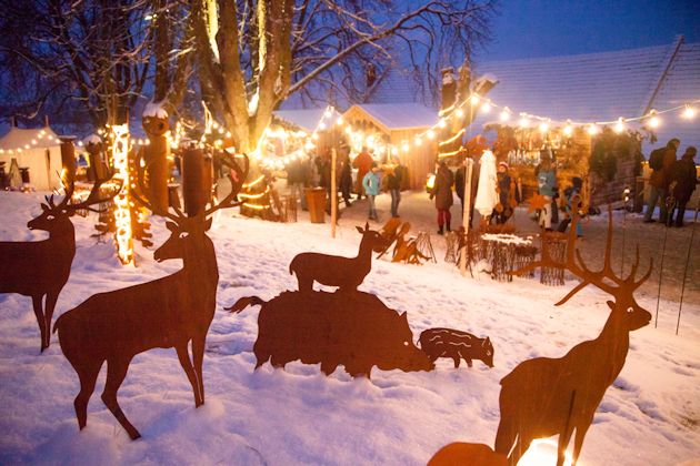
[[[569,301],[574,294],[583,290],[588,285],[594,285],[598,288],[609,293],[614,297],[614,301],[608,301],[608,306],[612,311],[610,317],[616,328],[623,331],[636,331],[651,322],[651,313],[640,306],[634,300],[634,291],[639,288],[651,275],[653,266],[653,259],[649,260],[649,270],[640,278],[636,280],[637,270],[639,269],[639,245],[637,246],[636,261],[632,264],[632,269],[626,277],[616,275],[611,265],[611,252],[612,252],[612,209],[608,209],[608,235],[606,240],[606,255],[603,266],[599,271],[591,271],[581,256],[581,252],[576,247],[576,223],[579,221],[578,213],[573,213],[571,221],[569,236],[567,239],[567,261],[561,263],[552,260],[552,257],[542,251],[542,259],[533,262],[530,265],[514,271],[513,274],[522,275],[537,267],[562,267],[571,272],[573,275],[581,278],[573,290],[571,290],[564,297],[561,298],[556,305],[560,306]]]

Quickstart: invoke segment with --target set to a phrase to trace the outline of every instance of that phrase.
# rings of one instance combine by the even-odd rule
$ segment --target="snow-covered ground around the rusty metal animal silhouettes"
[[[384,220],[386,197],[380,196],[378,204]],[[407,196],[406,215],[413,201],[430,209],[419,197]],[[40,212],[39,200],[39,194],[0,193],[1,241],[43,237],[44,233],[26,229]],[[576,282],[547,287],[524,278],[497,283],[488,275],[462,277],[442,262],[443,245],[433,235],[438,264],[374,261],[360,288],[407,311],[414,340],[438,326],[489,335],[494,368],[474,362],[473,368],[462,364],[454,369],[450,359],[440,359],[431,373],[374,369],[371,381],[353,381],[341,367],[324,377],[318,366],[300,363],[286,371],[267,364],[253,373],[259,308],[230,315],[222,307],[241,296],[267,300],[294,290],[288,265],[299,252],[354,254],[360,240],[354,226],[363,223],[364,209],[360,203],[347,211],[336,240],[330,239],[328,224],[310,224],[304,215],[296,224],[231,216],[231,211],[218,215],[210,235],[221,278],[204,358],[207,403],[194,408],[174,351],[137,356],[119,392],[122,408],[143,435],[137,442],[129,440],[99,397],[104,367],[89,406],[88,427],[78,430],[72,403],[78,377],[56,335],[40,355],[30,300],[0,295],[0,463],[419,465],[450,442],[492,445],[500,378],[527,358],[561,356],[596,337],[608,317],[608,295],[589,287],[554,307]],[[411,221],[432,230],[426,220],[432,220],[432,212]],[[111,242],[98,244],[90,237],[93,219],[73,222],[78,251],[56,316],[93,293],[149,281],[180,266],[178,261],[156,263],[152,251],[139,247],[138,267],[122,267]],[[591,221],[584,247],[599,244],[592,232],[604,231],[604,225]],[[152,231],[156,244],[167,236],[159,219]],[[671,247],[680,249],[679,244],[672,242]],[[643,251],[642,260],[648,260]],[[627,364],[599,407],[579,464],[700,460],[700,303],[697,294],[687,300],[677,336],[678,295],[667,294],[673,300],[662,300],[668,316],[662,314],[659,327],[650,325],[630,335]],[[644,292],[639,301],[654,313],[656,293]],[[544,449],[549,458],[532,464],[554,464],[553,448]]]

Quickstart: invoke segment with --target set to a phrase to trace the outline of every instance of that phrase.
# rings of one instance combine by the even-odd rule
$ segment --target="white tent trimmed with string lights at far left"
[[[12,159],[17,159],[19,168],[29,169],[29,181],[41,191],[50,191],[61,186],[61,142],[49,128],[23,129],[11,128],[0,138],[0,162],[6,162],[9,173]]]

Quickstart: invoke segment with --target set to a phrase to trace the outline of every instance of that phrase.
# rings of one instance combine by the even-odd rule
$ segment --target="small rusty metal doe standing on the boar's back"
[[[354,292],[362,284],[372,267],[372,251],[382,252],[386,240],[369,223],[358,226],[362,235],[360,250],[356,257],[342,257],[320,253],[297,254],[289,264],[289,273],[297,274],[299,291],[311,292],[313,282],[327,286],[338,286],[341,292]]]

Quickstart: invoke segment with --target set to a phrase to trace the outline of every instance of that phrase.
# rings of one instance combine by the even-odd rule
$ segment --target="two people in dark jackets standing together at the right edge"
[[[666,148],[657,149],[649,155],[649,201],[644,222],[652,219],[657,204],[659,205],[659,222],[667,226],[683,226],[686,206],[698,184],[694,156],[698,150],[692,145],[686,148],[680,160],[677,151],[680,146],[678,139],[670,140]]]

